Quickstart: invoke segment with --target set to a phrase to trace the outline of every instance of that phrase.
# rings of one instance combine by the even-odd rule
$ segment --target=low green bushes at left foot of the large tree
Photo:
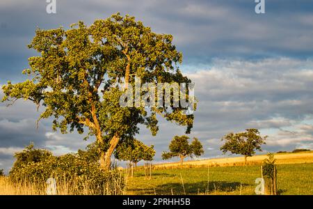
[[[41,153],[40,160],[35,157],[20,157],[24,155],[37,156],[38,153]],[[113,182],[120,182],[121,190],[125,187],[124,181],[121,180],[124,178],[122,174],[117,170],[100,170],[99,162],[92,160],[94,153],[90,153],[89,150],[80,150],[79,153],[59,157],[45,155],[45,153],[49,153],[49,151],[34,149],[33,145],[27,146],[21,153],[17,153],[15,155],[17,161],[10,171],[10,180],[13,183],[39,183],[44,187],[48,178],[56,178],[56,180],[63,180],[69,185],[75,185],[77,194],[86,187],[93,191],[93,194],[104,194],[107,185]],[[118,190],[116,192],[119,194]]]

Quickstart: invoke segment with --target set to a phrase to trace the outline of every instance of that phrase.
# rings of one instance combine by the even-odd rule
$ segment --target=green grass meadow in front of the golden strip
[[[313,163],[278,164],[280,194],[313,194]],[[258,165],[189,169],[157,169],[151,179],[136,171],[127,194],[255,194]]]

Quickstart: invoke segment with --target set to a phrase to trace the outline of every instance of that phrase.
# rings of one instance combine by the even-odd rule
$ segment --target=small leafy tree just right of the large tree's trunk
[[[133,139],[129,144],[122,144],[115,150],[115,158],[118,160],[128,160],[135,164],[141,160],[152,161],[155,155],[154,146],[147,146],[143,142]]]

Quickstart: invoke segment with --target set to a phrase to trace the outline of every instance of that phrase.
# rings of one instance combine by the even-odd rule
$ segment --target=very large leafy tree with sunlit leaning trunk
[[[193,127],[193,115],[186,107],[120,107],[119,98],[135,77],[143,83],[190,83],[179,70],[182,54],[172,45],[172,36],[158,34],[134,17],[119,13],[106,20],[83,22],[71,28],[37,29],[29,45],[40,55],[29,58],[25,82],[2,86],[2,101],[31,100],[45,107],[40,118],[53,117],[53,130],[77,130],[95,135],[101,166],[108,168],[115,147],[132,139],[139,125],[153,135],[159,130],[156,114],[168,121]],[[86,138],[88,138],[88,136]],[[104,155],[107,154],[107,155]],[[105,162],[104,164],[102,164]]]

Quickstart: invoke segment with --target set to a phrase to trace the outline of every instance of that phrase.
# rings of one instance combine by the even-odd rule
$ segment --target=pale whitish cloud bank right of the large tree
[[[216,148],[227,132],[249,127],[270,132],[267,146],[276,149],[312,141],[312,135],[304,131],[310,130],[310,124],[302,124],[313,114],[312,74],[312,60],[284,57],[216,59],[205,70],[186,73],[195,82],[195,96],[200,101],[193,134],[209,139],[207,146]]]

